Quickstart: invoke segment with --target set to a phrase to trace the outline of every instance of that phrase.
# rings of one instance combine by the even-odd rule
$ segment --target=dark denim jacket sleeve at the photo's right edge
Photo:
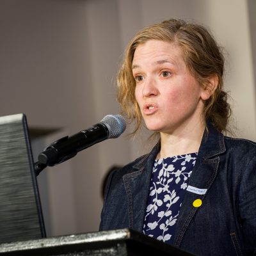
[[[239,211],[246,255],[256,255],[256,150],[248,155],[251,159],[244,163],[241,175]]]

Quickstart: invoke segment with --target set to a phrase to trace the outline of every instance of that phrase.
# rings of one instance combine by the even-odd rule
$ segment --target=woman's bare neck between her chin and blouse
[[[198,152],[204,130],[205,123],[198,122],[193,127],[185,127],[172,134],[161,132],[161,150],[157,159]]]

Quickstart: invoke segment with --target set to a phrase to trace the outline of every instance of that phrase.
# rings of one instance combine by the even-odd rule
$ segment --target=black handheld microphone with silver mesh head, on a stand
[[[77,152],[91,147],[100,141],[118,138],[126,128],[121,115],[107,115],[98,123],[72,136],[54,141],[39,154],[38,163],[54,166],[76,156]]]

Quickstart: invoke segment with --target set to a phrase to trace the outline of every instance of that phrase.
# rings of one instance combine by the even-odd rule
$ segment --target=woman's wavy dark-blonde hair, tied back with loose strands
[[[136,121],[135,134],[142,124],[140,108],[135,99],[136,83],[132,75],[132,60],[138,45],[148,40],[175,42],[179,45],[186,66],[197,81],[204,86],[212,76],[218,77],[218,86],[204,106],[204,120],[210,121],[218,131],[228,131],[228,118],[231,114],[227,102],[228,94],[223,91],[224,57],[213,36],[204,26],[170,19],[142,29],[131,40],[124,55],[124,61],[117,77],[117,99],[122,114]]]

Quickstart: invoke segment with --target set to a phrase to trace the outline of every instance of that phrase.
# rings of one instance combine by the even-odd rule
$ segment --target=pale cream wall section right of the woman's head
[[[237,136],[255,140],[256,102],[253,75],[255,67],[253,70],[253,49],[250,38],[252,32],[247,2],[208,0],[207,3],[209,12],[205,21],[211,24],[228,52],[225,86],[234,99]]]

